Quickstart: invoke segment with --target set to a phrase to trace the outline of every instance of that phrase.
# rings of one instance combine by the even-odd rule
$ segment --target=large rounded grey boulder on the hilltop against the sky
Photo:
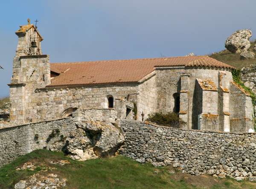
[[[249,29],[241,29],[230,35],[225,42],[225,47],[233,53],[247,51],[250,48],[249,39],[252,36],[252,31]]]

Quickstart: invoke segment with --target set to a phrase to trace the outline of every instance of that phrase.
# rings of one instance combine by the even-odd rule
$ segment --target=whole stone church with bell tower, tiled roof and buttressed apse
[[[50,63],[29,20],[16,35],[11,122],[60,119],[76,108],[113,109],[116,120],[176,112],[184,129],[253,132],[250,94],[233,82],[235,68],[228,64],[208,56]]]

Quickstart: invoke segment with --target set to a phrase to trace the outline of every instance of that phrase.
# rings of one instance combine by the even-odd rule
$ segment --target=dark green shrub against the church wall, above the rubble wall
[[[148,115],[146,121],[154,122],[157,125],[164,125],[169,127],[179,127],[183,125],[184,122],[180,120],[179,115],[174,112],[163,113],[152,113]]]

